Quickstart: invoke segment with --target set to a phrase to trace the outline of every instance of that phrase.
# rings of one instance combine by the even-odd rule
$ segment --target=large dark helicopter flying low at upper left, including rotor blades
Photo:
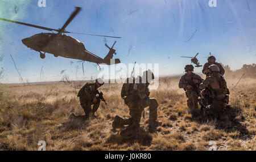
[[[0,20],[4,20],[6,22],[11,22],[11,23],[27,25],[30,27],[40,28],[47,31],[57,32],[57,33],[39,33],[34,36],[28,37],[26,39],[22,39],[23,44],[26,45],[28,48],[38,51],[40,53],[41,58],[45,58],[46,53],[51,53],[55,57],[61,56],[65,58],[80,59],[82,61],[89,61],[97,64],[104,63],[106,65],[112,65],[115,63],[120,63],[119,59],[112,59],[113,54],[116,54],[115,49],[113,49],[113,46],[116,41],[112,45],[112,48],[110,48],[107,44],[105,44],[105,46],[109,48],[109,53],[103,59],[86,50],[84,44],[79,40],[76,40],[71,36],[64,35],[64,33],[74,33],[74,32],[65,31],[65,28],[73,20],[73,18],[75,18],[75,16],[79,13],[80,10],[81,10],[81,7],[76,7],[76,10],[72,13],[71,16],[69,16],[69,19],[67,20],[67,22],[65,22],[63,27],[60,29],[41,27],[38,25],[16,22],[14,20],[7,20],[2,18],[0,18]],[[114,37],[114,36],[92,35],[88,33],[75,33],[75,34],[121,38],[121,37]]]

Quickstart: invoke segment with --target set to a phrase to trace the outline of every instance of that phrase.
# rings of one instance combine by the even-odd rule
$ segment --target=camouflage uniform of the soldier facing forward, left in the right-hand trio
[[[197,79],[199,83],[193,83],[193,79]],[[191,75],[184,74],[180,78],[179,82],[179,88],[183,88],[185,90],[185,94],[188,97],[187,100],[187,105],[188,108],[191,110],[198,109],[198,97],[199,97],[199,92],[196,90],[196,88],[199,88],[199,84],[203,82],[203,79],[195,74],[192,73]],[[187,85],[192,86],[193,88],[187,88]]]

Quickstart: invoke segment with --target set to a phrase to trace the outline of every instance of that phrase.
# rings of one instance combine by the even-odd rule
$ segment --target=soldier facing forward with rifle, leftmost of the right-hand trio
[[[184,69],[186,74],[181,76],[179,88],[184,89],[185,94],[188,97],[188,108],[191,110],[191,113],[194,114],[198,110],[198,97],[200,95],[199,84],[203,82],[203,79],[199,75],[193,73],[193,65],[188,64]]]

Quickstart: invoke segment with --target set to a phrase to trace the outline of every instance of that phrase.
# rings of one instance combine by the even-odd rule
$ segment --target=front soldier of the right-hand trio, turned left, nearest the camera
[[[200,84],[200,89],[209,89],[213,111],[219,113],[224,109],[225,104],[229,102],[229,89],[226,86],[224,77],[220,75],[220,69],[217,65],[209,66],[209,74],[210,76]]]

